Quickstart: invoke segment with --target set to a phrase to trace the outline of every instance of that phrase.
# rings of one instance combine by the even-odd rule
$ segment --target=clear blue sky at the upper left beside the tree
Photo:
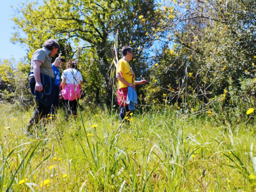
[[[11,43],[11,36],[14,30],[14,22],[10,20],[13,10],[11,6],[16,8],[18,4],[26,2],[26,0],[0,0],[0,59],[9,59],[14,57],[16,61],[26,56],[26,47],[22,47],[20,44]]]

